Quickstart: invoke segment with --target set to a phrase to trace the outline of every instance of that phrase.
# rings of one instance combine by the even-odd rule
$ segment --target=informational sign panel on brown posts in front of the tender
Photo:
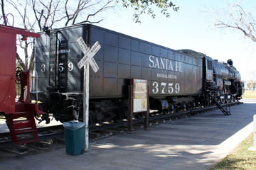
[[[134,79],[134,99],[133,112],[147,111],[148,91],[147,81],[142,79]]]

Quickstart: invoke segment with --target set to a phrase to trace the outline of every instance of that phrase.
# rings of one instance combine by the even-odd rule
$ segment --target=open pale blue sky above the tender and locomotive
[[[107,11],[105,20],[99,24],[104,28],[154,42],[174,50],[191,49],[217,59],[220,62],[232,59],[234,66],[249,79],[248,72],[255,69],[255,45],[249,38],[235,30],[213,27],[213,18],[207,9],[224,8],[226,4],[240,2],[245,11],[255,14],[256,1],[174,1],[180,7],[166,18],[156,13],[156,18],[144,15],[142,23],[132,21],[131,9],[120,6],[115,11]],[[254,12],[254,13],[253,13]]]

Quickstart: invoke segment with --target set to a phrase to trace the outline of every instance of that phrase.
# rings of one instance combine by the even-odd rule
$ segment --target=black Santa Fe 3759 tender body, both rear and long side
[[[201,94],[201,58],[90,25],[41,34],[36,47],[38,91],[82,92],[80,37],[90,46],[96,41],[101,45],[94,56],[100,69],[95,73],[90,68],[91,98],[125,97],[129,79],[149,80],[150,96]]]

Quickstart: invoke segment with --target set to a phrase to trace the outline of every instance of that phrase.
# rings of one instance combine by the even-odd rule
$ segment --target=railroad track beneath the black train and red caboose
[[[241,104],[241,102],[223,104],[222,106],[227,106],[227,105],[235,106],[238,104]],[[151,113],[151,116],[149,117],[149,126],[157,125],[159,123],[166,123],[166,122],[178,120],[181,118],[187,118],[188,116],[191,116],[191,115],[213,111],[216,109],[218,109],[217,106],[208,106],[205,108],[193,108],[192,110],[181,111],[178,113],[169,113],[169,114],[163,114],[158,112]],[[144,123],[144,119],[134,119],[133,120],[134,129],[136,130],[137,128],[144,128],[143,123]],[[91,127],[89,132],[90,142],[94,142],[96,140],[109,137],[111,135],[127,132],[128,130],[127,125],[128,125],[127,121],[122,121],[120,123],[102,123],[102,125]],[[32,144],[28,144],[26,146],[45,150],[45,149],[49,149],[48,145],[51,145],[54,141],[65,144],[63,125],[55,125],[50,127],[38,128],[38,136],[41,142],[35,142]],[[26,152],[23,152],[23,149],[21,149],[22,152],[20,152],[19,149],[17,151],[16,147],[18,146],[14,144],[14,142],[11,142],[11,137],[9,132],[0,133],[0,149],[6,149],[8,147],[14,148],[14,153],[16,154],[24,154],[24,153],[26,154]],[[9,152],[13,152],[13,151],[9,150]]]

